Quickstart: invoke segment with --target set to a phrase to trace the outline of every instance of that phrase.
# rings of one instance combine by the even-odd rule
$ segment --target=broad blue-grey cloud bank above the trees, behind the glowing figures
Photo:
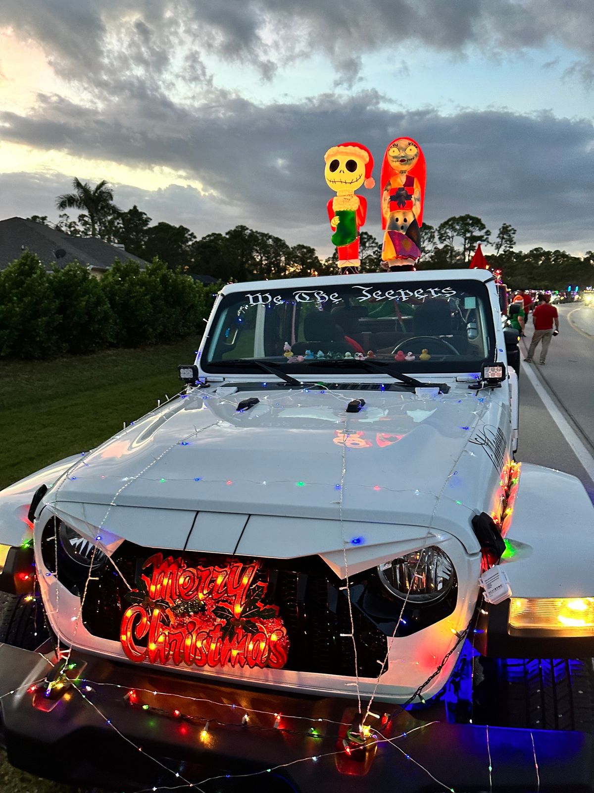
[[[0,113],[0,124],[5,139],[15,143],[87,157],[101,152],[105,160],[137,169],[169,168],[205,189],[121,187],[116,198],[124,208],[136,202],[155,220],[183,223],[199,235],[246,224],[324,252],[330,250],[331,193],[323,153],[341,140],[360,140],[375,155],[378,179],[386,144],[406,133],[421,142],[427,158],[429,223],[470,213],[482,216],[493,232],[511,223],[522,244],[592,247],[594,128],[588,120],[496,109],[406,113],[391,109],[375,91],[361,91],[267,106],[221,94],[196,110],[166,98],[139,98],[128,107],[115,100],[101,114],[44,97],[30,115]],[[54,177],[49,184],[53,195],[67,189],[64,183],[58,188]],[[378,188],[361,192],[370,205],[366,228],[379,236]],[[43,193],[31,193],[36,201],[29,199],[26,213],[48,213],[40,206]]]

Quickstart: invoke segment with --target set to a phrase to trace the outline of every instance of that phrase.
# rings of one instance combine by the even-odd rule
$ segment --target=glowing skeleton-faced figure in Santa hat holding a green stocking
[[[362,144],[345,143],[333,146],[324,155],[326,184],[336,197],[330,198],[326,209],[334,229],[332,242],[337,247],[341,274],[358,273],[359,229],[367,216],[367,201],[355,193],[360,186],[371,189],[373,157]]]

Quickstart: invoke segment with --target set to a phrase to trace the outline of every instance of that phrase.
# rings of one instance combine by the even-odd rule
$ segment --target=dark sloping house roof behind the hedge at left
[[[131,259],[142,267],[148,264],[139,256],[98,237],[72,237],[57,228],[22,217],[0,220],[0,270],[18,259],[25,250],[39,256],[47,270],[53,270],[56,265],[62,268],[74,261],[88,264],[94,270],[109,270],[114,259]],[[65,255],[57,257],[56,251],[65,251]]]

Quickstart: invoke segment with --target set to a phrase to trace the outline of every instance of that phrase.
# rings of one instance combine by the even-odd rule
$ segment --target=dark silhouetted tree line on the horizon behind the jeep
[[[74,179],[73,186],[73,193],[57,197],[56,207],[83,211],[76,220],[67,213],[60,214],[56,228],[73,236],[100,236],[107,242],[120,243],[128,253],[147,261],[157,258],[172,270],[211,275],[222,282],[337,273],[336,252],[320,259],[309,245],[290,246],[280,237],[244,225],[198,239],[183,225],[164,221],[152,224],[136,205],[125,211],[119,209],[113,203],[108,182],[93,187]],[[47,216],[33,215],[29,220],[48,223]],[[467,267],[478,243],[491,249],[484,251],[489,266],[501,270],[512,289],[566,289],[569,284],[584,289],[594,282],[592,251],[584,257],[542,247],[516,251],[516,229],[511,224],[501,224],[492,240],[491,231],[474,215],[452,216],[437,226],[424,223],[420,269]],[[381,269],[381,243],[369,232],[361,232],[360,258],[364,272]]]

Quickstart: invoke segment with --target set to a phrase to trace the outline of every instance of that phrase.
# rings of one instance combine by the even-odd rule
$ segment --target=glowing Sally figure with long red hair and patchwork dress
[[[382,266],[415,270],[421,256],[425,155],[412,138],[397,138],[382,163]]]

